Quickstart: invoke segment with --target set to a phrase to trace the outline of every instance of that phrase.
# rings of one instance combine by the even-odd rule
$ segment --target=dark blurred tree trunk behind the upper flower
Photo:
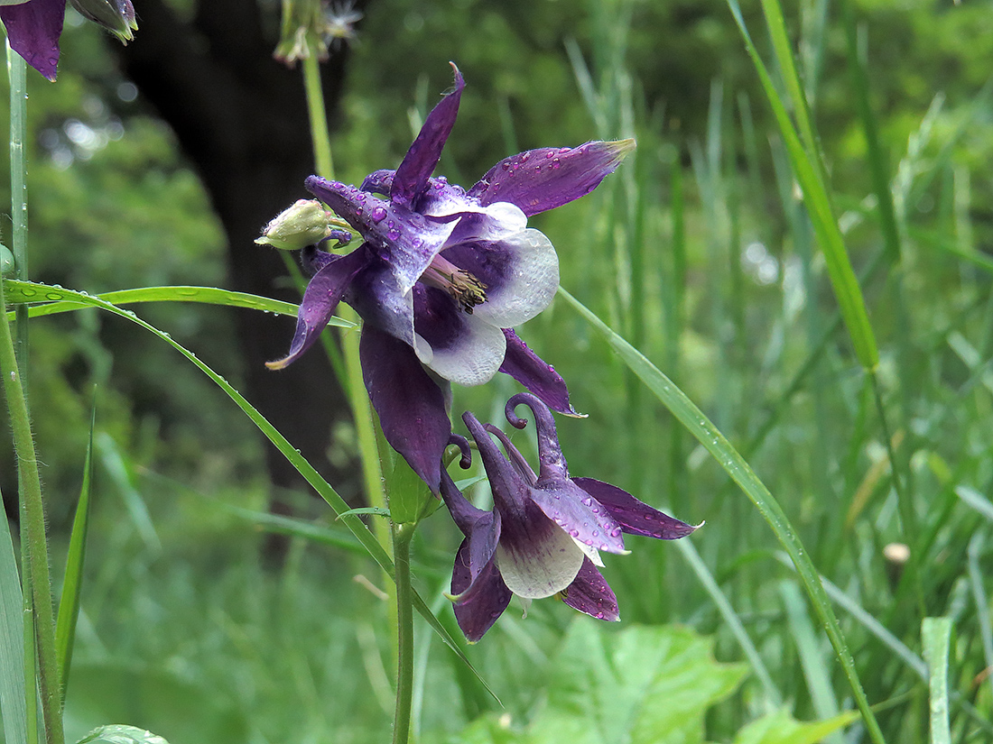
[[[260,5],[201,0],[190,15],[164,0],[141,0],[135,41],[111,46],[200,173],[226,234],[231,289],[299,302],[278,251],[253,243],[269,219],[307,195],[303,181],[314,167],[302,73],[273,60],[278,4],[269,11]],[[331,113],[342,94],[346,52],[322,65]],[[233,311],[245,368],[241,392],[343,496],[354,497],[354,468],[336,472],[327,458],[332,426],[349,411],[324,354],[272,372],[264,362],[286,353],[291,321]],[[299,487],[296,470],[265,446],[272,482]]]

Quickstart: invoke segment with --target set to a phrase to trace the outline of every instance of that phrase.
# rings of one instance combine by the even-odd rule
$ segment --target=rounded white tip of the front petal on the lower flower
[[[497,565],[507,588],[519,597],[540,599],[572,583],[585,555],[563,530],[549,530],[540,543],[525,543],[526,552],[497,546]]]

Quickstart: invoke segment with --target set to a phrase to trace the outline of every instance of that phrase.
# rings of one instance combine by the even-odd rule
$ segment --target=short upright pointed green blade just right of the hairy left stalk
[[[66,704],[66,687],[75,643],[75,623],[79,617],[79,593],[82,587],[82,564],[86,558],[86,535],[89,532],[89,487],[93,482],[93,428],[96,425],[96,401],[89,416],[89,441],[82,465],[82,486],[79,502],[75,507],[69,553],[66,556],[66,577],[63,580],[62,598],[59,600],[59,617],[56,620],[56,658],[62,677],[62,703]]]

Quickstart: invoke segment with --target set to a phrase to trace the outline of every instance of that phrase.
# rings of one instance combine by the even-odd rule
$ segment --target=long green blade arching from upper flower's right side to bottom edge
[[[870,732],[872,732],[874,741],[877,744],[881,744],[884,741],[883,733],[879,729],[876,716],[869,706],[869,700],[866,698],[862,682],[859,681],[858,672],[855,669],[855,662],[852,659],[848,645],[845,643],[845,638],[841,633],[838,620],[834,616],[834,610],[831,608],[830,600],[824,591],[824,587],[821,585],[820,576],[807,552],[803,550],[803,545],[799,538],[796,537],[796,531],[786,518],[782,507],[780,507],[780,503],[752,471],[752,468],[741,454],[738,453],[738,450],[703,415],[703,412],[696,407],[685,393],[649,362],[638,349],[615,333],[595,313],[588,310],[561,287],[559,288],[559,295],[605,336],[608,343],[614,348],[625,364],[638,375],[638,378],[645,384],[648,390],[658,398],[662,405],[675,416],[690,434],[693,434],[697,438],[704,448],[720,463],[728,475],[741,487],[745,495],[748,496],[756,509],[759,510],[759,514],[762,515],[763,519],[772,528],[777,540],[780,541],[780,545],[796,567],[796,572],[803,582],[807,596],[810,598],[817,616],[824,625],[827,636],[831,641],[831,646],[834,647],[834,652],[838,657],[838,661],[841,663],[845,678],[852,688],[856,704],[859,710],[862,711],[862,717]]]

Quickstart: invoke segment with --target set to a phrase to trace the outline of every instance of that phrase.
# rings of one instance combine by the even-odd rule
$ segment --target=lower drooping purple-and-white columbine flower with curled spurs
[[[452,572],[455,616],[473,642],[490,630],[511,594],[525,602],[558,595],[580,612],[619,620],[617,598],[596,568],[603,565],[600,551],[627,553],[623,533],[676,540],[697,529],[617,486],[569,477],[551,412],[533,395],[518,393],[504,410],[517,429],[527,424],[514,414],[520,404],[534,412],[541,463],[537,475],[505,434],[481,425],[469,412],[462,420],[479,446],[494,510],[470,504],[442,471],[442,497],[466,536]],[[488,433],[503,444],[505,457]],[[458,436],[453,441],[462,448],[462,466],[469,467],[468,442]]]

